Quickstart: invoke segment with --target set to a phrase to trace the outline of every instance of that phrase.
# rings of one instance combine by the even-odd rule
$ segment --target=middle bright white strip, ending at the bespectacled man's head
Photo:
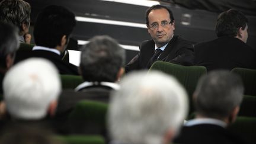
[[[130,23],[125,21],[113,21],[113,20],[104,20],[104,19],[87,18],[87,17],[75,17],[75,18],[76,18],[76,21],[89,22],[89,23],[112,24],[112,25],[122,25],[127,27],[147,28],[146,24],[140,24],[140,23]]]

